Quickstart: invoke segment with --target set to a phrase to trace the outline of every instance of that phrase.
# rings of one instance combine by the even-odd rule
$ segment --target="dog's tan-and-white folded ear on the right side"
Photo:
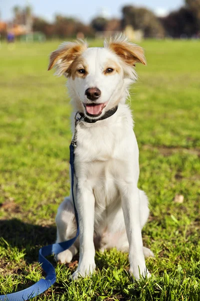
[[[127,65],[135,66],[135,63],[146,65],[143,49],[128,42],[124,35],[111,38],[109,42],[105,41],[104,46],[113,51]]]

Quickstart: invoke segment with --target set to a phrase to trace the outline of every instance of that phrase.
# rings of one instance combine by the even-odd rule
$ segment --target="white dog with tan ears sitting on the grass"
[[[68,78],[74,113],[84,116],[77,125],[74,195],[79,238],[57,255],[70,262],[79,249],[75,279],[95,269],[95,247],[129,251],[130,273],[149,276],[141,229],[149,209],[145,193],[137,188],[138,146],[131,111],[125,104],[130,83],[136,80],[135,63],[145,65],[141,47],[119,36],[104,48],[87,48],[82,41],[66,42],[50,55],[48,70]],[[74,114],[73,114],[74,116]],[[74,129],[73,129],[74,130]],[[56,215],[57,240],[75,236],[73,201],[65,198]]]

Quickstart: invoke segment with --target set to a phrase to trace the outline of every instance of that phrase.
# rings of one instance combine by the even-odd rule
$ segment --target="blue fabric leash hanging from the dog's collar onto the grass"
[[[76,116],[75,116],[76,117]],[[75,119],[75,134],[76,134],[76,125],[79,119]],[[53,243],[51,245],[44,246],[39,249],[39,263],[41,264],[42,269],[46,273],[45,279],[40,279],[38,282],[34,283],[30,287],[17,291],[12,292],[7,295],[0,295],[0,301],[25,301],[29,300],[35,296],[38,296],[40,293],[48,289],[56,280],[55,276],[55,269],[52,266],[52,264],[45,258],[46,256],[52,255],[52,254],[58,254],[62,251],[65,251],[66,249],[70,248],[70,246],[75,242],[76,238],[79,234],[79,226],[78,226],[78,215],[75,208],[75,202],[74,202],[74,195],[73,195],[73,182],[74,182],[74,147],[75,145],[75,136],[71,141],[71,144],[69,146],[70,150],[70,159],[69,163],[71,166],[71,193],[72,193],[72,199],[73,199],[73,206],[74,206],[74,212],[75,212],[75,219],[77,224],[77,231],[74,238],[71,238],[67,241],[60,242],[60,243]]]

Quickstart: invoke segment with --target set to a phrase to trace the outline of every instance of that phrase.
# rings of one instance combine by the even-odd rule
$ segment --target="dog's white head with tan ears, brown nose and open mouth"
[[[143,49],[119,36],[104,48],[87,48],[83,41],[66,42],[51,53],[48,70],[68,78],[68,89],[76,110],[99,118],[119,101],[136,79],[135,63],[146,64]]]

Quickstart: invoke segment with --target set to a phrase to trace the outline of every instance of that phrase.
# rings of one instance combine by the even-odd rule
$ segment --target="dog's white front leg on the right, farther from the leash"
[[[126,183],[122,189],[121,202],[129,243],[129,272],[135,279],[139,279],[140,274],[150,276],[145,266],[142,249],[138,188]]]

